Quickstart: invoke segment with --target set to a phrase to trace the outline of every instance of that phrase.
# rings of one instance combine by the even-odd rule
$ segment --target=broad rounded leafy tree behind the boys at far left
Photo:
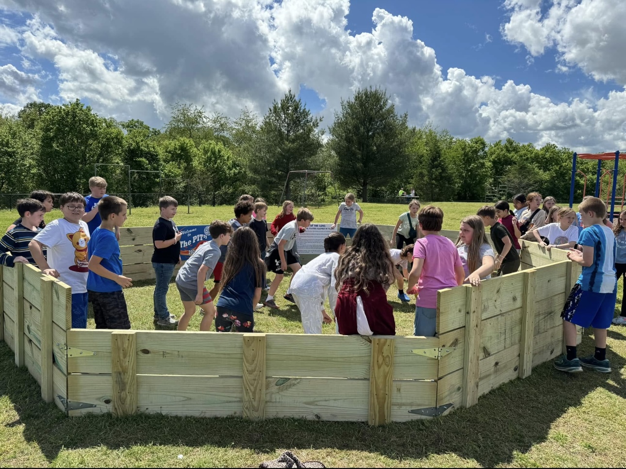
[[[53,192],[87,192],[96,163],[119,164],[124,134],[113,119],[78,99],[49,108],[39,121],[41,149],[36,186]]]

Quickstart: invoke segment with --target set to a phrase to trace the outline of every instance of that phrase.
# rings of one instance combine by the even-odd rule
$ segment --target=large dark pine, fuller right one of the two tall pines
[[[339,183],[360,189],[364,202],[370,188],[388,184],[407,168],[407,119],[407,114],[398,116],[380,88],[358,89],[352,99],[342,99],[329,129],[334,175]]]

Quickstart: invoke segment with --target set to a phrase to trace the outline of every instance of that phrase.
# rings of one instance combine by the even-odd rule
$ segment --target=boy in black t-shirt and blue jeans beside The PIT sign
[[[178,321],[170,314],[167,308],[167,292],[170,290],[170,281],[174,269],[181,263],[180,238],[183,233],[178,231],[173,219],[178,211],[178,201],[170,196],[159,199],[158,207],[161,211],[159,218],[152,228],[152,243],[155,250],[152,253],[152,268],[155,270],[155,291],[152,296],[155,311],[155,326],[175,327]]]

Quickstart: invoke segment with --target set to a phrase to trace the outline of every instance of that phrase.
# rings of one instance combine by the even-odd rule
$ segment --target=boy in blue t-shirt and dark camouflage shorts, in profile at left
[[[87,291],[96,329],[130,329],[122,288],[133,286],[133,280],[122,275],[120,243],[115,237],[115,229],[126,221],[126,208],[126,201],[119,197],[101,199],[98,212],[102,222],[91,233],[87,246]]]

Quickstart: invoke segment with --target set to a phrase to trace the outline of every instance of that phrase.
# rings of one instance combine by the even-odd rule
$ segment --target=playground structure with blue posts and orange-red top
[[[583,173],[580,170],[576,169],[577,159],[595,159],[598,161],[596,178],[595,178],[595,191],[594,196],[602,197],[602,188],[604,186],[604,178],[608,176],[607,183],[607,191],[606,191],[606,201],[607,201],[607,211],[610,217],[610,220],[613,221],[613,215],[615,214],[615,201],[620,202],[620,211],[623,209],[624,203],[626,202],[626,173],[623,175],[622,181],[622,196],[616,197],[617,190],[617,179],[618,179],[618,166],[620,159],[626,159],[626,154],[621,154],[620,151],[615,151],[615,153],[576,153],[574,152],[572,155],[572,182],[570,183],[570,208],[572,208],[574,203],[574,185],[576,174],[582,174],[584,178],[584,186],[583,186],[583,197],[587,193],[587,174]],[[607,169],[602,171],[602,161],[615,161],[615,165],[613,169]]]

